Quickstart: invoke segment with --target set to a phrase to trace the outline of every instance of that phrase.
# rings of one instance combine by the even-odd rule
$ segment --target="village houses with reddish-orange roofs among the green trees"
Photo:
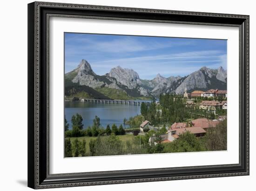
[[[191,93],[187,92],[187,88],[184,90],[183,98],[187,99],[185,102],[186,107],[195,109],[196,105],[199,105],[200,110],[205,110],[207,112],[212,112],[216,114],[216,110],[227,110],[227,91],[226,90],[214,90],[210,89],[206,92],[203,91],[193,91]],[[195,103],[197,98],[202,98],[200,103]],[[211,99],[211,100],[203,100]],[[219,101],[217,99],[221,99]],[[159,102],[156,102],[159,104]],[[160,113],[162,112],[159,110]],[[207,118],[199,118],[186,122],[175,122],[171,126],[166,127],[166,133],[158,134],[157,136],[153,134],[152,137],[149,138],[149,144],[157,144],[157,143],[168,143],[172,142],[175,139],[178,139],[180,135],[185,132],[189,132],[195,135],[195,137],[203,137],[207,133],[209,128],[215,128],[221,121],[227,118],[226,115],[219,115],[217,119],[207,119]],[[140,133],[141,135],[144,132],[155,131],[158,132],[160,127],[154,127],[151,125],[150,121],[145,120],[140,125]],[[146,131],[145,131],[146,130]],[[160,141],[156,141],[156,138],[160,138]]]

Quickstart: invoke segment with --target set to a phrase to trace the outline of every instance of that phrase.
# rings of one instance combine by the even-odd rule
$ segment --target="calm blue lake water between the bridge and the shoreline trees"
[[[83,118],[84,128],[93,125],[93,119],[97,115],[101,119],[101,126],[106,128],[115,124],[117,126],[128,125],[123,124],[123,119],[129,119],[141,114],[141,106],[124,105],[124,104],[94,104],[88,102],[65,102],[65,115],[69,127],[72,126],[71,118],[79,113]]]

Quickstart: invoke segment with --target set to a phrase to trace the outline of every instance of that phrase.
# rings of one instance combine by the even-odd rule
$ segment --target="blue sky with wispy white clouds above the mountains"
[[[98,75],[121,66],[141,79],[185,76],[202,66],[227,69],[227,40],[65,33],[65,73],[86,59]]]

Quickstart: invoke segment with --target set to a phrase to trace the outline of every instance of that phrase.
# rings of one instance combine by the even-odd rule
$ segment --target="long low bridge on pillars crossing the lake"
[[[65,99],[66,101],[72,101],[72,99]],[[81,102],[88,102],[94,104],[127,104],[127,105],[141,105],[141,103],[149,104],[150,100],[119,100],[119,99],[80,99]]]

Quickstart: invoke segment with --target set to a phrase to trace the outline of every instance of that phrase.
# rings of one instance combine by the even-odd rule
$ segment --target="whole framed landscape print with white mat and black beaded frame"
[[[249,175],[249,16],[28,4],[28,186]]]

